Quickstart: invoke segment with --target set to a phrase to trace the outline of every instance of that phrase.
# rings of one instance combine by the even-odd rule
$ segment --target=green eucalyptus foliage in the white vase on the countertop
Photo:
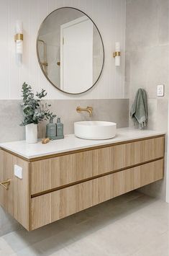
[[[45,103],[45,105],[42,104],[42,98],[46,95],[47,92],[45,92],[45,89],[42,89],[41,92],[37,92],[37,94],[34,95],[32,87],[24,82],[22,85],[23,101],[21,104],[24,120],[20,124],[21,126],[29,125],[31,123],[38,124],[43,120],[56,117],[56,115],[53,115],[49,110],[51,105],[47,105],[47,103]]]

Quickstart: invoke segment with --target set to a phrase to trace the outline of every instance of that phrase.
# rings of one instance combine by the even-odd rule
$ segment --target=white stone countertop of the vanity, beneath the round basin
[[[26,159],[33,159],[40,156],[49,156],[52,154],[60,154],[78,149],[86,149],[94,146],[103,146],[115,144],[122,141],[132,141],[139,138],[150,136],[160,136],[165,134],[163,131],[139,130],[134,128],[119,128],[117,135],[108,140],[86,140],[76,138],[74,134],[65,135],[65,138],[50,141],[48,144],[42,144],[39,141],[37,144],[27,144],[25,141],[12,141],[1,143],[0,148],[11,151],[14,154],[22,156]]]

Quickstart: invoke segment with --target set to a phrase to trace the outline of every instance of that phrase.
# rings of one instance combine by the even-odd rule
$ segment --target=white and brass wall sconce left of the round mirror
[[[22,65],[22,54],[23,54],[23,25],[20,20],[17,20],[16,25],[15,25],[15,35],[14,35],[14,40],[15,40],[15,45],[16,45],[16,61],[17,65],[21,66]]]

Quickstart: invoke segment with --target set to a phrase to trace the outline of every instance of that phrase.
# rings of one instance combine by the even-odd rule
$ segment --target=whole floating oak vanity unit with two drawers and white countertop
[[[1,144],[1,206],[29,231],[63,219],[163,179],[164,142],[164,133],[121,128],[104,141]]]

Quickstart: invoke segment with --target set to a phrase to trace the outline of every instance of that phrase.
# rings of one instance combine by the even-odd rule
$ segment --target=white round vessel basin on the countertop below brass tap
[[[74,123],[74,133],[78,138],[104,140],[116,135],[117,124],[102,121],[82,121]]]

